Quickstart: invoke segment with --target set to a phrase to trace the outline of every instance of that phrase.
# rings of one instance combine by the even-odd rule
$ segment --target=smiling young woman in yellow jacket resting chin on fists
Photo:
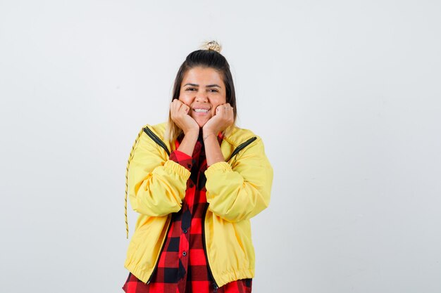
[[[127,293],[251,292],[251,217],[268,207],[273,169],[259,136],[235,126],[230,66],[216,41],[175,79],[168,122],[145,125],[130,152],[127,194],[139,213]]]

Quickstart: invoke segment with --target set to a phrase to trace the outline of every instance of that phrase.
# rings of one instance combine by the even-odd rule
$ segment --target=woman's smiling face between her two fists
[[[190,107],[188,115],[204,126],[215,115],[216,107],[226,103],[225,85],[213,68],[194,67],[184,74],[179,100]]]

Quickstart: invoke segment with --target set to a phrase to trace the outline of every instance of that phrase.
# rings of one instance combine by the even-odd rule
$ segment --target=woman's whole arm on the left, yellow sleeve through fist
[[[179,211],[185,197],[187,179],[192,168],[192,153],[199,135],[199,126],[188,114],[190,107],[175,99],[170,115],[185,136],[178,150],[164,159],[159,146],[142,133],[133,150],[128,168],[129,198],[140,214],[165,216]]]

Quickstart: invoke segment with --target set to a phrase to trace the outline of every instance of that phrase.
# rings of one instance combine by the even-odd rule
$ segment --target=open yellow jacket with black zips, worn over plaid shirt
[[[156,269],[171,213],[181,209],[190,178],[190,171],[168,159],[175,144],[164,140],[165,130],[166,122],[142,128],[130,153],[126,177],[126,209],[128,191],[139,216],[124,266],[146,283]],[[268,207],[273,183],[273,168],[261,138],[251,131],[235,127],[223,138],[221,151],[227,161],[212,164],[205,171],[209,207],[204,243],[218,287],[254,278],[249,219]]]

